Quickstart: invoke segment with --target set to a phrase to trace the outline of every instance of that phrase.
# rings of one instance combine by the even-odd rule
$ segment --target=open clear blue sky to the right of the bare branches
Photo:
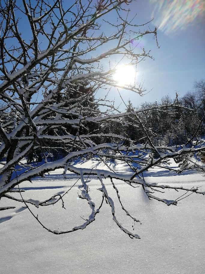
[[[138,80],[140,81],[143,75],[144,88],[147,91],[152,90],[143,97],[121,90],[125,101],[130,97],[134,105],[139,105],[144,101],[159,100],[167,94],[174,97],[176,91],[182,96],[192,90],[195,80],[205,79],[205,2],[203,0],[162,1],[167,5],[161,9],[158,6],[159,2],[160,0],[137,1],[129,6],[131,14],[137,13],[135,20],[137,23],[149,21],[154,16],[155,18],[149,26],[159,26],[164,20],[163,8],[166,8],[167,11],[170,3],[177,2],[177,5],[174,6],[175,10],[172,11],[174,13],[165,22],[168,30],[158,29],[160,49],[157,48],[151,36],[145,37],[142,41],[146,50],[151,49],[151,55],[155,60],[146,59],[139,64],[137,68]],[[192,2],[192,4],[199,2],[204,9],[193,11],[192,7],[192,10],[187,11],[186,7],[184,11],[182,2]],[[194,12],[195,17],[193,16]],[[176,18],[174,18],[174,14],[176,14]],[[175,22],[175,19],[179,22]],[[177,23],[178,26],[173,29],[174,23]],[[117,92],[114,90],[113,96],[116,96],[116,103],[119,103]]]

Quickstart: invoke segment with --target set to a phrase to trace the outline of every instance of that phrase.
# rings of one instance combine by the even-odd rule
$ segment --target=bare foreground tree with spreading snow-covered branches
[[[117,220],[115,205],[104,180],[108,178],[126,215],[132,217],[120,200],[115,180],[120,180],[137,191],[140,186],[149,199],[166,205],[177,205],[176,200],[158,197],[155,192],[166,189],[205,194],[197,186],[150,184],[143,173],[153,167],[169,168],[169,160],[187,155],[190,158],[205,149],[188,140],[184,145],[162,146],[153,141],[152,131],[147,127],[144,113],[179,113],[183,107],[177,100],[169,104],[147,106],[141,109],[120,109],[107,96],[97,99],[95,92],[122,85],[115,80],[120,66],[133,66],[145,58],[152,58],[150,51],[136,47],[144,35],[151,35],[157,42],[157,29],[148,23],[129,22],[128,0],[99,1],[1,1],[0,3],[0,199],[5,207],[11,200],[35,207],[62,202],[62,195],[47,200],[24,199],[19,186],[36,176],[58,168],[73,172],[82,182],[80,198],[86,199],[91,213],[83,224],[66,231],[47,229],[54,234],[84,229],[95,220],[102,202],[110,205],[113,220],[131,238],[139,238]],[[114,19],[110,19],[114,18]],[[24,28],[26,24],[26,28]],[[107,33],[106,33],[107,32]],[[124,85],[125,90],[143,95],[145,89],[136,82]],[[126,105],[126,104],[125,104]],[[115,125],[119,132],[115,131]],[[134,140],[128,128],[140,132]],[[109,131],[105,131],[109,128]],[[191,143],[191,144],[190,144]],[[63,152],[62,157],[47,161],[48,153]],[[35,156],[36,155],[36,156]],[[41,163],[32,160],[41,155]],[[80,168],[75,160],[98,159],[104,167]],[[23,161],[27,159],[27,162]],[[114,159],[116,165],[124,162],[129,174],[114,171],[106,161]],[[193,160],[193,159],[192,159]],[[38,162],[38,161],[37,161]],[[199,165],[198,165],[199,166]],[[179,172],[179,168],[172,170]],[[202,167],[202,170],[204,168]],[[180,169],[180,172],[182,170]],[[95,175],[101,184],[102,199],[88,191],[85,175]],[[12,195],[18,186],[19,196]],[[154,193],[154,194],[153,194]],[[100,206],[98,206],[98,204]],[[32,212],[32,210],[29,208]],[[33,213],[32,213],[33,214]]]

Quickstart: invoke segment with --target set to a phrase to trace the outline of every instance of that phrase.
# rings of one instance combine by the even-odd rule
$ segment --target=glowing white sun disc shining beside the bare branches
[[[119,67],[116,70],[113,79],[118,83],[118,85],[123,87],[125,85],[134,85],[135,76],[136,70],[133,66],[127,65]]]

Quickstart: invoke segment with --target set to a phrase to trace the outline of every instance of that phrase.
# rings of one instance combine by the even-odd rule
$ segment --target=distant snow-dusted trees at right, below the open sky
[[[150,138],[154,145],[159,146],[181,145],[190,140],[193,135],[196,140],[205,133],[205,81],[195,81],[193,87],[193,91],[187,92],[182,97],[176,94],[176,98],[172,99],[166,95],[160,101],[144,102],[139,107],[133,107],[129,100],[127,112],[146,109],[140,112],[138,121],[136,121],[136,115],[130,114],[124,119],[128,127],[122,125],[119,127],[116,122],[111,122],[107,123],[103,132],[107,133],[110,128],[115,128],[116,134],[123,132],[133,141],[149,143],[148,138]],[[157,106],[161,106],[161,111],[158,111]],[[145,134],[146,132],[149,132],[149,136]]]

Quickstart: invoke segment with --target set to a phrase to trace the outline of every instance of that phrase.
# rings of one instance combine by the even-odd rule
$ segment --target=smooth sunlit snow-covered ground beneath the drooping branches
[[[82,165],[82,163],[78,163]],[[96,165],[84,163],[85,167]],[[98,166],[99,168],[99,166]],[[112,168],[116,170],[114,164]],[[20,185],[24,199],[44,200],[56,193],[63,193],[78,179],[63,170],[53,171],[45,178]],[[118,170],[129,172],[124,165]],[[155,168],[145,174],[146,181],[184,187],[205,188],[205,177],[197,171],[176,175]],[[90,177],[89,194],[97,205],[101,202],[99,180]],[[84,230],[69,234],[54,235],[43,229],[24,204],[11,202],[15,209],[0,211],[0,273],[1,274],[202,274],[205,255],[204,196],[193,193],[178,202],[177,206],[151,201],[141,187],[132,188],[115,180],[122,202],[140,223],[133,223],[119,206],[110,181],[104,180],[109,195],[115,201],[116,216],[127,229],[137,233],[141,239],[130,239],[112,220],[110,206],[103,203],[96,220]],[[82,224],[90,214],[87,201],[79,199],[77,184],[64,196],[64,208],[59,201],[53,206],[29,208],[38,214],[50,229],[69,229]],[[80,194],[80,192],[79,192]],[[167,190],[161,197],[176,199],[184,191]],[[13,193],[12,193],[13,195]],[[19,193],[15,193],[16,197]],[[0,206],[5,206],[4,199]]]

